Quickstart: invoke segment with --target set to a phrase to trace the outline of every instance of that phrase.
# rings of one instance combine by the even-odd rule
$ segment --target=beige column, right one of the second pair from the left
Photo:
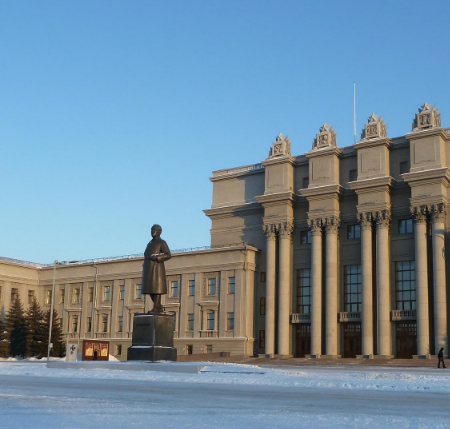
[[[338,312],[338,229],[339,218],[331,217],[326,223],[326,353],[337,356]]]

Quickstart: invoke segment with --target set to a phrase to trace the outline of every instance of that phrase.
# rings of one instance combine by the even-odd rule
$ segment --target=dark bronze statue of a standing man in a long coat
[[[152,241],[144,252],[142,269],[142,293],[150,295],[153,301],[152,313],[162,313],[161,295],[167,293],[164,261],[172,257],[169,246],[161,238],[160,225],[152,226]]]

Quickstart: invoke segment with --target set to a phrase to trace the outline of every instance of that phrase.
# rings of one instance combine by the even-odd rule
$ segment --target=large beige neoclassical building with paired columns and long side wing
[[[325,124],[304,155],[280,134],[265,161],[213,172],[211,246],[166,262],[178,354],[448,353],[448,166],[450,129],[424,104],[401,137],[372,115],[352,146]],[[125,359],[151,306],[142,255],[53,268],[2,258],[2,315],[53,298],[69,342],[108,339]]]

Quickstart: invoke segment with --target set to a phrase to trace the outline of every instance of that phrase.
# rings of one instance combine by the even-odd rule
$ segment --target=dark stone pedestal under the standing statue
[[[167,314],[136,314],[133,340],[127,360],[177,360],[173,346],[173,316]]]

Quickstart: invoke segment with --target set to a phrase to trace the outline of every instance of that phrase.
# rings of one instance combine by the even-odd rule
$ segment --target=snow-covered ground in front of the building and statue
[[[175,374],[3,361],[0,428],[450,427],[450,370],[203,365]]]

